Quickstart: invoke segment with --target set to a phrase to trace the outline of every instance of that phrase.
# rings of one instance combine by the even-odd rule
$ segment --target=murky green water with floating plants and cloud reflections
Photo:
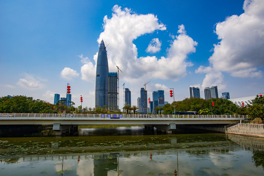
[[[175,175],[263,176],[264,139],[190,131],[167,135],[142,127],[0,138],[0,176]]]

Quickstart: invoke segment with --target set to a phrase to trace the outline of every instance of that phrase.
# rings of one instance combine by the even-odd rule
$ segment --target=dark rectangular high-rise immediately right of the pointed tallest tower
[[[108,109],[118,110],[118,73],[108,73]]]

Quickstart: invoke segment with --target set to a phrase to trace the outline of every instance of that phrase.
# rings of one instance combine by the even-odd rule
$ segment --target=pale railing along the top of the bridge
[[[247,115],[171,115],[171,114],[64,114],[64,113],[0,113],[1,117],[61,117],[61,118],[247,118]]]

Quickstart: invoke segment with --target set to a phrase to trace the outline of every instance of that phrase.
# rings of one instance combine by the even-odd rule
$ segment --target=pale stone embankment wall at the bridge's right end
[[[264,137],[264,124],[237,124],[225,129],[226,133]]]

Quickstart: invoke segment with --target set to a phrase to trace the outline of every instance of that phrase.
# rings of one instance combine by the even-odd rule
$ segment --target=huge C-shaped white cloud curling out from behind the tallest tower
[[[187,55],[195,52],[196,42],[186,35],[184,25],[179,26],[179,35],[175,36],[168,48],[168,56],[160,59],[155,56],[138,57],[133,41],[138,37],[156,30],[165,30],[166,26],[153,14],[138,15],[130,9],[115,5],[112,18],[104,17],[104,31],[98,43],[103,39],[108,46],[109,71],[121,70],[126,82],[134,79],[171,79],[177,81],[186,75],[186,67],[192,63],[186,61]]]

